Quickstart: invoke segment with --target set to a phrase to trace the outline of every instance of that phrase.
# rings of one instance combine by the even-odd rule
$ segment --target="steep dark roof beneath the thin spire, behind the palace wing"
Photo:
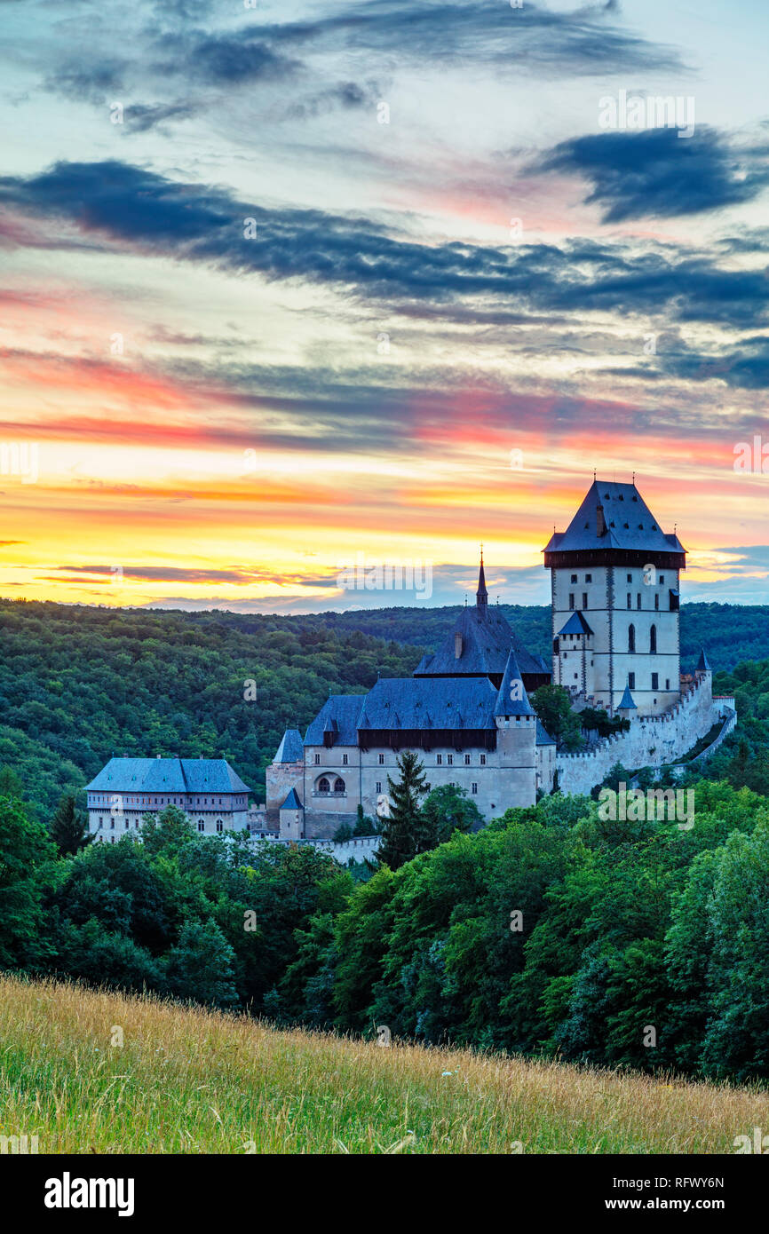
[[[462,655],[454,655],[454,636],[462,634]],[[513,649],[522,673],[547,673],[549,668],[539,655],[531,655],[504,613],[495,606],[473,605],[463,608],[457,623],[434,655],[425,655],[415,677],[436,677],[448,674],[488,676],[504,673],[510,649]]]

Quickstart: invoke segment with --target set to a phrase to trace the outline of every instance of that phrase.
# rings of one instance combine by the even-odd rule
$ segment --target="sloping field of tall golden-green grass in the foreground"
[[[754,1127],[767,1093],[0,976],[0,1135],[38,1153],[733,1153]]]

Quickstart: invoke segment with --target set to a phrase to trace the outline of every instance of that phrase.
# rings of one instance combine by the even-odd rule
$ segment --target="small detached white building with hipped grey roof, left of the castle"
[[[111,758],[85,791],[95,842],[136,835],[146,814],[167,806],[178,806],[210,835],[248,826],[251,789],[226,759]]]

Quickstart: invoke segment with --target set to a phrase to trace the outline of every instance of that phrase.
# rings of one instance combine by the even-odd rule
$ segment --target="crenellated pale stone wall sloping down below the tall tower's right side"
[[[702,674],[664,716],[632,719],[630,732],[605,738],[589,754],[558,754],[558,785],[564,793],[589,793],[615,763],[628,771],[678,763],[721,714],[726,714],[726,705],[712,697],[711,674]]]

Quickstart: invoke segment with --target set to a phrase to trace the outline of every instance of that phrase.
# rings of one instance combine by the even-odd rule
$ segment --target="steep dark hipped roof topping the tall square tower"
[[[606,531],[597,534],[596,510],[604,507]],[[634,484],[594,480],[565,532],[554,532],[546,553],[581,553],[585,549],[644,549],[649,553],[683,553],[678,536],[667,534]]]

